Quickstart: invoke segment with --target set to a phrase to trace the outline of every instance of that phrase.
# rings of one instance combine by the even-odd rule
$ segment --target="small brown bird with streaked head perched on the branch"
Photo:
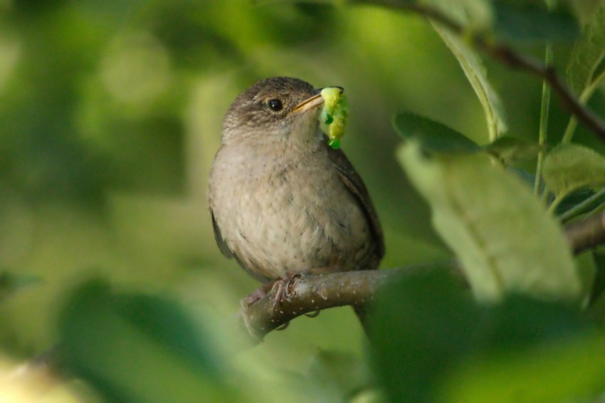
[[[327,145],[320,90],[262,80],[223,120],[209,180],[221,251],[263,282],[297,273],[377,268],[382,230],[361,177]]]

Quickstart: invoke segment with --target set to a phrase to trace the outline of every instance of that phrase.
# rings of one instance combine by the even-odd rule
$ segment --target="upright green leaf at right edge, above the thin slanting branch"
[[[605,77],[605,4],[593,14],[574,44],[567,64],[567,83],[584,102]]]

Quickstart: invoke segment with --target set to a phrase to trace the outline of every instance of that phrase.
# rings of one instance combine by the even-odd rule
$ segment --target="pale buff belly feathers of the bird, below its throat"
[[[214,209],[216,223],[254,276],[345,271],[364,263],[372,248],[367,217],[330,169],[300,163],[281,172],[240,169],[228,172],[229,180],[217,178],[222,185],[212,202],[223,208]]]

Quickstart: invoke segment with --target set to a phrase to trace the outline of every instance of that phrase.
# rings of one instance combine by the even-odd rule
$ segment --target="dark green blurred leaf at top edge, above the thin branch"
[[[494,31],[501,41],[573,41],[579,33],[574,16],[542,1],[496,0]]]

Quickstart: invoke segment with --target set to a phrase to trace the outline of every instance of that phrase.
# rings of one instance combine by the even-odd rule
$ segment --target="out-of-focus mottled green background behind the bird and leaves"
[[[216,246],[206,183],[223,113],[270,76],[346,88],[342,147],[382,219],[382,268],[449,257],[396,162],[391,117],[416,112],[483,144],[480,103],[429,23],[337,3],[0,0],[0,271],[26,283],[0,303],[1,355],[53,345],[65,298],[88,278],[169,295],[222,338],[258,283]],[[542,84],[487,66],[508,133],[535,139]],[[552,108],[560,137],[568,117]],[[236,361],[300,374],[317,352],[361,355],[363,342],[352,311],[333,309]]]

